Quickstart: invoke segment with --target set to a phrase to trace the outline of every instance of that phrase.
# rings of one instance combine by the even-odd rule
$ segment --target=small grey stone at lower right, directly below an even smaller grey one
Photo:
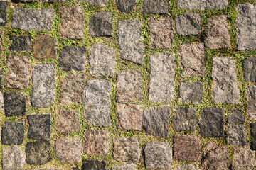
[[[245,125],[229,125],[228,127],[228,144],[246,145],[247,135]]]

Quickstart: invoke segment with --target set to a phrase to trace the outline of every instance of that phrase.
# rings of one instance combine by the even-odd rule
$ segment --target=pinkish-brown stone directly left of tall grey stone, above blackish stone
[[[31,77],[29,56],[8,55],[6,57],[6,66],[9,70],[6,72],[5,86],[8,88],[27,89]]]

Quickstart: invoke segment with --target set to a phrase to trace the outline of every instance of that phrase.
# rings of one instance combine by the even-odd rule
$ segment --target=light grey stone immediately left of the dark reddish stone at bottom
[[[146,169],[171,169],[172,149],[167,142],[146,142]]]

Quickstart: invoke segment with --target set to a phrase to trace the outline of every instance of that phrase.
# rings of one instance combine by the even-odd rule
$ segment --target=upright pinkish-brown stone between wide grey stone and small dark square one
[[[84,15],[82,6],[62,6],[60,8],[61,38],[84,38]]]

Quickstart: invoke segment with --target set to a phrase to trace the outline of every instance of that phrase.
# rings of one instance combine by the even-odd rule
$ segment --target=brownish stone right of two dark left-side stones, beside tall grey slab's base
[[[79,111],[60,109],[56,120],[58,132],[76,132],[80,130]]]

